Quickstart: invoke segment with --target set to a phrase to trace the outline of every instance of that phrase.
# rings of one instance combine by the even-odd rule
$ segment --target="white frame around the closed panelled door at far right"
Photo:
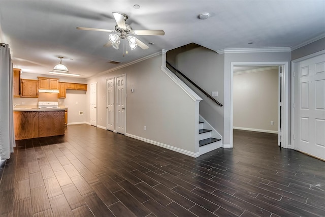
[[[301,58],[291,61],[291,138],[290,138],[290,140],[291,140],[291,147],[295,150],[297,150],[297,148],[295,147],[295,139],[294,139],[294,135],[295,135],[295,108],[294,108],[294,104],[295,104],[295,64],[299,61],[310,59],[310,58],[313,58],[315,56],[319,56],[322,54],[325,54],[325,50],[321,50],[316,53],[312,53],[310,55],[303,56]]]

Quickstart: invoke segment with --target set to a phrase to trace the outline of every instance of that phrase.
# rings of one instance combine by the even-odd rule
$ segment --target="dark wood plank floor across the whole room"
[[[324,216],[325,163],[234,131],[234,148],[190,158],[88,125],[21,140],[0,216]]]

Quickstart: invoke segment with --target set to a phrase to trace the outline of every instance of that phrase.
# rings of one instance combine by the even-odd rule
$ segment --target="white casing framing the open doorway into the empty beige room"
[[[291,148],[291,145],[288,144],[288,117],[289,117],[289,109],[288,109],[288,102],[289,102],[289,63],[287,61],[275,61],[275,62],[232,62],[231,63],[231,78],[230,78],[230,147],[234,146],[233,144],[233,89],[234,89],[234,66],[282,66],[282,82],[281,82],[281,147],[282,148]],[[278,113],[278,116],[280,113]]]

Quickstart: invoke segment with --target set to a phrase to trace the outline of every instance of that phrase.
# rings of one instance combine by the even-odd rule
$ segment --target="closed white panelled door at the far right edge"
[[[294,148],[325,160],[325,54],[297,61]]]

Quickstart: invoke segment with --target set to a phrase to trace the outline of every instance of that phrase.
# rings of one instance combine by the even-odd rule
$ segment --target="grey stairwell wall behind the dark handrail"
[[[218,91],[218,97],[214,98],[223,104],[223,55],[219,55],[205,47],[195,46],[195,44],[190,44],[187,47],[189,49],[168,51],[168,59],[175,58],[174,67],[198,84],[208,94],[212,95],[212,91]],[[175,54],[175,52],[181,53]],[[197,88],[188,85],[203,99],[200,102],[200,115],[222,136],[224,130],[223,107],[216,105]]]

